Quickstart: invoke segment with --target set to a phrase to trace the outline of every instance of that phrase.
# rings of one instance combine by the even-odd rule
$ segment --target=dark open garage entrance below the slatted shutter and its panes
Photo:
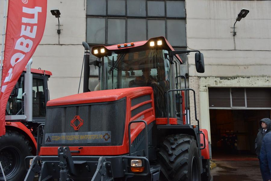
[[[270,110],[210,109],[212,153],[256,157],[254,141],[265,117],[270,117]]]

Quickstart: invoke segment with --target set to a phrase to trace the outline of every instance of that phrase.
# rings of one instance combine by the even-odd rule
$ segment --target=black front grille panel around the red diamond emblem
[[[124,125],[125,125],[125,110],[126,110],[126,99],[123,98],[118,101],[103,102],[96,104],[84,104],[84,105],[64,105],[54,106],[47,108],[45,130],[43,139],[43,146],[56,146],[65,145],[65,141],[46,142],[48,135],[50,139],[52,136],[63,136],[67,135],[92,135],[101,132],[110,133],[110,142],[95,142],[95,143],[82,143],[82,140],[75,140],[69,146],[109,146],[109,145],[122,145]],[[83,120],[83,125],[79,130],[75,130],[71,126],[71,120],[79,116]],[[79,125],[79,121],[76,119],[74,125]],[[81,132],[81,133],[80,133]],[[84,132],[84,133],[83,133]],[[46,137],[46,138],[45,138]],[[79,136],[80,137],[80,136]],[[78,139],[79,139],[78,137]],[[105,138],[107,138],[106,136]],[[102,139],[102,138],[101,138]],[[76,144],[80,142],[80,144]],[[59,143],[59,144],[58,144]],[[67,143],[67,142],[66,142]]]

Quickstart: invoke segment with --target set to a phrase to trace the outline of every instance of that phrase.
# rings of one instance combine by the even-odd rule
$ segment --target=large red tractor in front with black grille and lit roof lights
[[[182,60],[164,37],[85,47],[84,93],[48,101],[39,156],[27,157],[25,181],[210,180],[206,130],[189,124],[178,85]],[[198,72],[203,55],[196,51]],[[89,65],[99,68],[89,92]]]

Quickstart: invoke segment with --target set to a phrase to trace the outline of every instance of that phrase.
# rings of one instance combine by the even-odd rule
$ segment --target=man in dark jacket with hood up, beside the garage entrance
[[[261,145],[263,142],[263,137],[268,132],[271,131],[270,126],[271,126],[271,120],[269,118],[263,118],[260,120],[260,129],[255,139],[255,152],[257,154],[257,158],[259,159],[260,159],[260,150],[261,150]]]

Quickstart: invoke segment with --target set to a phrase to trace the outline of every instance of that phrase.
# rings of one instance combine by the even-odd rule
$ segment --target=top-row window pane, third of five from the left
[[[127,0],[127,16],[146,16],[146,1]]]

